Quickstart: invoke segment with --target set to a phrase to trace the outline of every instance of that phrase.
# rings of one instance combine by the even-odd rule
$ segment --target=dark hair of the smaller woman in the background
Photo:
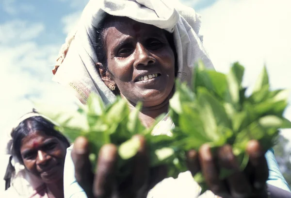
[[[61,140],[66,148],[70,146],[66,137],[55,129],[55,125],[42,116],[32,116],[19,123],[19,125],[11,133],[13,139],[12,152],[16,155],[21,164],[23,160],[20,153],[22,139],[31,132],[43,132],[48,136],[53,136]]]

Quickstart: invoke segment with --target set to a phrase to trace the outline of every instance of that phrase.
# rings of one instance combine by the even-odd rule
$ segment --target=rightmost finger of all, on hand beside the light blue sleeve
[[[257,140],[251,140],[246,148],[250,164],[254,168],[253,186],[256,190],[264,190],[269,177],[269,168],[264,156],[264,151]]]

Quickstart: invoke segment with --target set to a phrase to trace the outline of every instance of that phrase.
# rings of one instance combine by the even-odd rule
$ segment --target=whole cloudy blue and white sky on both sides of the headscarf
[[[180,0],[202,16],[204,45],[218,71],[246,67],[252,86],[265,64],[273,89],[291,88],[290,0]],[[67,103],[51,69],[87,0],[0,0],[0,131],[32,109],[32,99]],[[291,95],[290,95],[291,101]],[[291,107],[285,112],[291,119]],[[291,139],[291,131],[282,134]]]

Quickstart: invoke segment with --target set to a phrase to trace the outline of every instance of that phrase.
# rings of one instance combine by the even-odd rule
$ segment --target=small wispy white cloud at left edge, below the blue
[[[42,23],[30,23],[24,20],[7,21],[0,24],[0,44],[31,40],[44,30],[45,26]]]

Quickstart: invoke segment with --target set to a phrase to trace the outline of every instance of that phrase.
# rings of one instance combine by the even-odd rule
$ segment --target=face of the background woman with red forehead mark
[[[63,179],[66,147],[58,138],[32,132],[22,139],[20,153],[24,166],[45,183]]]

